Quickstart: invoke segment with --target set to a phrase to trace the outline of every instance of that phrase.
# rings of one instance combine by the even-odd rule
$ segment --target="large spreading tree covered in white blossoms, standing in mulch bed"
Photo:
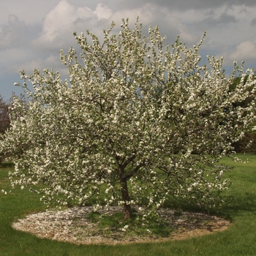
[[[15,156],[12,185],[44,184],[42,200],[64,205],[95,197],[96,208],[121,205],[125,219],[132,206],[144,217],[156,213],[170,195],[214,206],[229,186],[218,161],[255,121],[254,101],[233,105],[255,85],[253,70],[235,63],[226,78],[214,56],[200,66],[205,34],[192,48],[179,39],[165,48],[157,26],[148,38],[138,20],[134,29],[123,20],[119,34],[113,27],[102,42],[74,33],[82,61],[73,48],[60,53],[69,80],[53,69],[21,72],[29,108],[14,100],[12,113],[23,115],[11,114],[1,140],[1,151]],[[241,83],[230,91],[237,71]]]

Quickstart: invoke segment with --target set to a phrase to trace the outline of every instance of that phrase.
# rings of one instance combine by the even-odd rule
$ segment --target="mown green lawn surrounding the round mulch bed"
[[[11,225],[26,214],[43,211],[37,195],[15,189],[4,195],[1,189],[10,189],[7,173],[10,167],[0,168],[0,255],[256,255],[256,155],[241,155],[249,163],[232,162],[225,176],[233,182],[225,203],[215,214],[229,217],[233,224],[222,233],[154,244],[130,245],[75,245],[40,239],[29,233],[13,230]]]

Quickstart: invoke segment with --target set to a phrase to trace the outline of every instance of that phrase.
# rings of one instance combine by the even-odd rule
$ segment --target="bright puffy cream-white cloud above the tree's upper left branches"
[[[55,53],[61,48],[67,50],[75,45],[75,39],[72,37],[74,31],[78,34],[86,30],[94,33],[102,31],[100,20],[110,18],[112,14],[112,10],[106,4],[98,4],[93,11],[89,7],[75,7],[67,0],[61,0],[46,15],[42,32],[37,39],[34,39],[32,45],[37,49],[53,50]]]

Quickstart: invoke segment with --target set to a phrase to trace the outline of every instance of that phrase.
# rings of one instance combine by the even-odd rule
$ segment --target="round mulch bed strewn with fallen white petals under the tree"
[[[74,207],[64,211],[45,211],[37,214],[29,214],[25,219],[18,219],[12,227],[33,233],[39,238],[50,238],[58,241],[66,241],[75,244],[129,244],[129,243],[152,243],[186,239],[195,236],[203,236],[227,229],[230,225],[225,219],[201,213],[176,211],[168,208],[159,209],[158,213],[170,225],[173,233],[168,237],[154,236],[148,230],[143,236],[127,235],[121,229],[104,232],[97,223],[91,222],[86,215],[93,211],[93,207]],[[111,207],[99,210],[101,214],[120,212],[120,207]]]

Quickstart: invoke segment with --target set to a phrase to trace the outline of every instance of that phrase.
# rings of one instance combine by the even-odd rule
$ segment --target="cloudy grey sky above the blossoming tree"
[[[65,73],[59,50],[77,44],[73,31],[87,29],[100,35],[111,21],[121,18],[135,23],[137,16],[145,31],[158,25],[167,43],[177,36],[187,45],[199,42],[207,31],[201,55],[224,56],[230,72],[233,61],[256,68],[255,0],[0,0],[0,94],[9,99],[21,90],[20,69],[54,67]]]

